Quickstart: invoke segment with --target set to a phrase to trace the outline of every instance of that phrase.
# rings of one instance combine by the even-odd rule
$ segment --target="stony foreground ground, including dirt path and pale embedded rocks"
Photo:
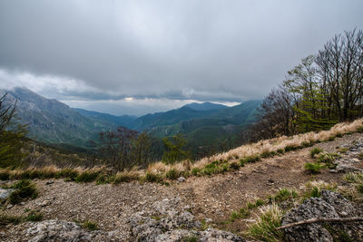
[[[231,211],[238,210],[255,198],[266,199],[280,188],[299,189],[309,180],[342,184],[344,172],[363,169],[362,160],[358,159],[358,154],[363,150],[362,134],[346,135],[319,143],[316,147],[329,152],[346,148],[346,152],[335,160],[336,169],[324,169],[318,175],[311,175],[304,169],[306,162],[313,161],[309,154],[312,148],[307,148],[247,164],[235,172],[172,181],[170,186],[137,181],[95,185],[62,179],[35,180],[40,191],[39,197],[15,206],[6,205],[3,212],[25,215],[29,209],[40,210],[44,220],[0,227],[0,240],[195,241],[193,239],[198,238],[199,241],[244,241],[246,237],[241,232],[255,221],[256,214],[224,223],[230,218]],[[321,206],[328,209],[330,206],[328,210],[332,217],[344,217],[340,213],[341,207],[329,205],[327,200],[331,196],[328,194],[326,199],[316,198],[318,201],[307,200],[301,209],[318,209]],[[360,208],[354,207],[354,212],[349,212],[351,209],[348,208],[347,216],[359,215],[357,211]],[[312,218],[319,211],[311,212],[308,217]],[[285,218],[285,223],[297,218],[296,214],[290,215],[292,217]],[[78,225],[85,220],[96,222],[98,230],[88,231]],[[323,231],[321,227],[318,228]],[[320,237],[320,234],[314,234],[317,229],[313,229],[310,234]],[[354,229],[363,231],[362,227]],[[286,230],[287,235],[290,230]],[[307,231],[306,227],[302,230]],[[306,238],[311,238],[311,235]],[[292,234],[289,239],[294,236]],[[327,236],[324,241],[332,241],[330,238]]]

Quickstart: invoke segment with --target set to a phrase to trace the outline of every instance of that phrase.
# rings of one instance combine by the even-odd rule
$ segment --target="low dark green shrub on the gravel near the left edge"
[[[16,182],[13,188],[15,191],[13,191],[9,196],[9,202],[11,204],[18,204],[26,198],[38,197],[38,192],[35,188],[35,185],[28,179],[22,179]]]

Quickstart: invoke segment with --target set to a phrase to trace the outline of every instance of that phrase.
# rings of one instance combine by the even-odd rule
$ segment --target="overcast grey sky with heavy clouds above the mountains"
[[[0,88],[115,115],[263,99],[361,0],[0,0]]]

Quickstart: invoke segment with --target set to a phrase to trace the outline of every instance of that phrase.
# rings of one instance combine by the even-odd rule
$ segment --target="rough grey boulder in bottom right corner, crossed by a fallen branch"
[[[357,216],[355,208],[340,194],[323,190],[321,198],[309,198],[282,218],[282,225],[309,218],[344,218]],[[363,223],[307,224],[284,229],[286,241],[333,241],[333,238],[362,239]],[[359,232],[360,231],[360,232]]]

